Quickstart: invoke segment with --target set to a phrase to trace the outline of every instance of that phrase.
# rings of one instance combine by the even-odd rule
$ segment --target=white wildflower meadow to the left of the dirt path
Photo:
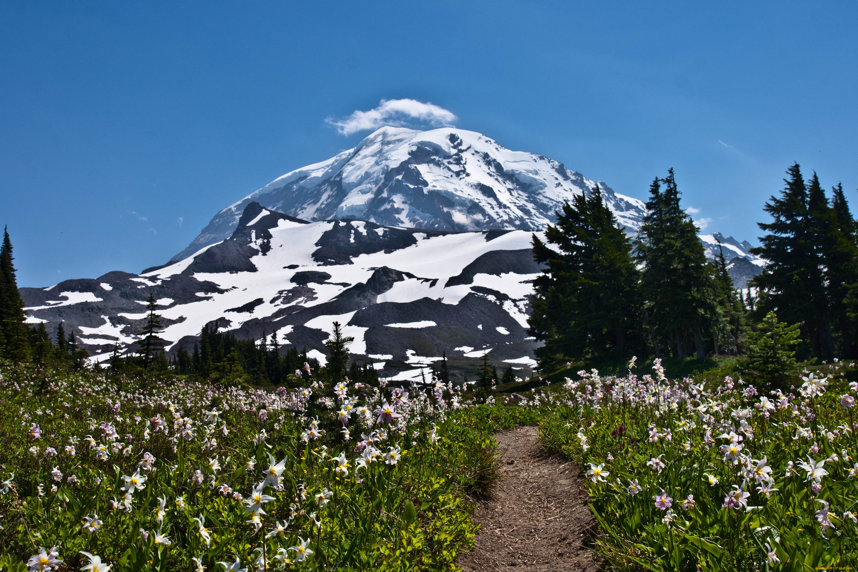
[[[4,368],[0,569],[455,569],[498,421],[441,383],[296,374],[263,390]]]

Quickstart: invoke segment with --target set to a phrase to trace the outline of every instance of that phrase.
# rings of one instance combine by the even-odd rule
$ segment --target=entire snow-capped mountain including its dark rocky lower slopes
[[[354,354],[395,378],[419,376],[443,352],[460,364],[491,352],[493,363],[530,366],[532,232],[595,184],[473,131],[384,127],[224,208],[166,265],[21,295],[28,322],[53,333],[65,321],[96,360],[117,341],[133,349],[152,292],[168,351],[190,349],[215,324],[244,339],[276,333],[323,361],[337,321]],[[599,185],[635,232],[644,202]],[[737,286],[764,263],[747,242],[700,239],[710,258],[721,244]]]

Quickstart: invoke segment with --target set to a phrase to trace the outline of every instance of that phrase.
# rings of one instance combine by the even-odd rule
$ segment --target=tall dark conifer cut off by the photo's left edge
[[[24,322],[24,301],[15,279],[15,258],[9,229],[3,230],[0,246],[0,355],[13,361],[30,358],[27,324]]]

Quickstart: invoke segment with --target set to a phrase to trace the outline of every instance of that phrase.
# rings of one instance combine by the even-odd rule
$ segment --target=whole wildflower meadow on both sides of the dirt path
[[[792,387],[579,371],[524,395],[3,368],[0,569],[456,569],[494,431],[580,467],[606,569],[858,562],[852,364]],[[501,402],[503,401],[503,402]]]

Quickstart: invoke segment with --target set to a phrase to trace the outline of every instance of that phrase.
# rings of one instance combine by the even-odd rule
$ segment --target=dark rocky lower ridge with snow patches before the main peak
[[[61,320],[96,360],[139,340],[149,292],[160,304],[168,351],[206,324],[239,338],[276,333],[324,361],[332,323],[354,336],[352,352],[383,375],[420,376],[443,352],[459,363],[535,364],[526,332],[539,273],[531,232],[446,232],[372,221],[309,222],[251,202],[232,236],[142,274],[112,272],[21,288],[28,322]]]

